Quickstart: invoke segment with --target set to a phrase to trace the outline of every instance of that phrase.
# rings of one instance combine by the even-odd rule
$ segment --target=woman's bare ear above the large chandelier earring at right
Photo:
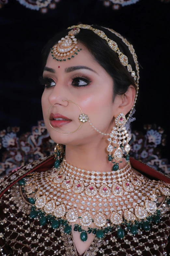
[[[118,116],[120,113],[123,113],[124,115],[126,115],[134,105],[135,96],[136,96],[135,87],[133,85],[130,85],[126,93],[119,97],[115,115]]]

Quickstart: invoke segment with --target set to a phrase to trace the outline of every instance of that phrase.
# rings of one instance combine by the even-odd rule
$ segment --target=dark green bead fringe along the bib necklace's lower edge
[[[23,187],[22,187],[22,189],[23,189]],[[28,201],[32,204],[35,204],[35,200],[33,198],[28,198]],[[167,205],[170,204],[169,197],[166,198],[166,204]],[[44,225],[46,225],[46,223],[50,222],[51,227],[53,229],[57,229],[59,226],[62,225],[62,226],[64,226],[64,232],[66,234],[69,234],[71,232],[72,227],[71,227],[71,225],[69,225],[67,220],[62,219],[62,218],[57,219],[50,214],[47,215],[45,212],[43,212],[41,210],[35,210],[35,209],[36,209],[35,205],[32,205],[29,217],[31,219],[35,219],[36,217],[38,217],[40,226],[44,226]],[[160,223],[160,221],[161,221],[160,214],[161,214],[161,211],[157,210],[155,214],[148,216],[146,219],[144,219],[140,222],[138,222],[138,221],[129,222],[124,219],[122,222],[122,225],[124,225],[125,228],[122,229],[122,228],[120,228],[120,226],[118,226],[117,236],[120,239],[122,239],[125,236],[124,230],[129,230],[133,235],[136,235],[138,233],[138,229],[140,229],[140,230],[143,229],[144,231],[149,231],[151,228],[151,223],[154,223],[154,224]],[[107,223],[109,223],[109,220],[107,220]],[[86,231],[86,230],[83,230],[80,225],[78,225],[78,224],[74,225],[74,231],[80,232],[80,239],[83,242],[86,242],[88,234],[90,234],[90,233],[92,233],[93,235],[96,234],[96,237],[98,239],[102,239],[105,234],[112,232],[112,230],[114,228],[115,228],[115,225],[110,224],[109,226],[103,227],[102,229],[88,227],[88,230]]]

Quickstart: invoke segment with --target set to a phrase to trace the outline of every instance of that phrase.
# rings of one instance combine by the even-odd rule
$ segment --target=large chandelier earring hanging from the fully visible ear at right
[[[121,163],[123,158],[123,149],[126,151],[126,160],[129,161],[129,151],[131,149],[130,145],[128,144],[131,138],[127,133],[125,124],[126,124],[126,117],[123,113],[120,113],[115,118],[116,127],[113,127],[113,130],[110,133],[110,138],[107,140],[109,141],[109,145],[107,147],[108,154],[108,161],[112,161],[114,163],[112,170],[117,171],[119,170],[119,163]],[[113,139],[113,141],[112,141]],[[111,144],[114,144],[112,146]],[[115,152],[112,154],[112,151]]]

